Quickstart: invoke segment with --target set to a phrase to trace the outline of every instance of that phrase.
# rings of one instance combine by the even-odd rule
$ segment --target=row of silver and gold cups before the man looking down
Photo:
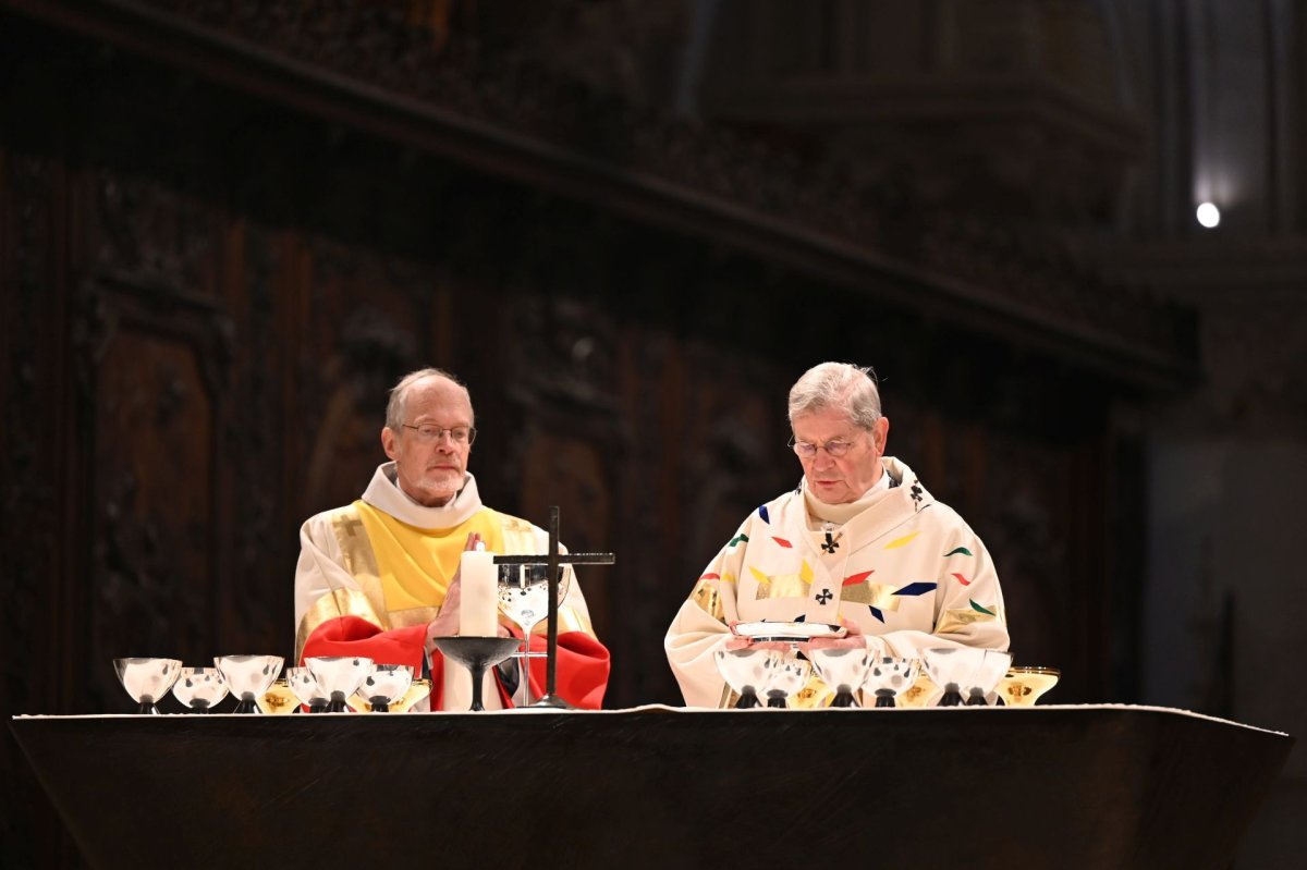
[[[750,647],[719,649],[716,661],[738,696],[737,708],[808,705],[800,699],[813,677],[834,692],[831,707],[984,705],[991,695],[1004,704],[1029,707],[1060,675],[1053,668],[1014,668],[1009,652],[971,647],[931,648],[920,658],[876,656],[867,649],[812,649],[804,658],[795,645]]]

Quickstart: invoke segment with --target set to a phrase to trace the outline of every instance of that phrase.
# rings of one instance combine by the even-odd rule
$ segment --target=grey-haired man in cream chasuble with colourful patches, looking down
[[[844,637],[810,643],[902,658],[932,647],[1006,649],[989,553],[911,468],[885,456],[889,419],[869,371],[810,368],[789,391],[789,423],[802,481],[749,515],[667,634],[685,703],[727,703],[715,653],[750,643],[732,632],[737,622],[844,626]]]

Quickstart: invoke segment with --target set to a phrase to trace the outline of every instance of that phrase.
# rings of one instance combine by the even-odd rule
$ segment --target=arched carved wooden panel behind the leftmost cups
[[[95,359],[88,677],[101,709],[131,709],[112,657],[213,653],[216,414],[195,355],[125,327]]]

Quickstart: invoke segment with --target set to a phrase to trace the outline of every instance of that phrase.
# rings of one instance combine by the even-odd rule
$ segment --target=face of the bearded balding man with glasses
[[[427,378],[409,387],[404,402],[404,423],[423,423],[452,428],[472,426],[472,404],[464,391],[443,378]],[[382,447],[395,460],[396,482],[409,496],[427,507],[438,507],[463,489],[472,444],[454,440],[443,432],[433,442],[423,442],[412,428],[382,428]]]

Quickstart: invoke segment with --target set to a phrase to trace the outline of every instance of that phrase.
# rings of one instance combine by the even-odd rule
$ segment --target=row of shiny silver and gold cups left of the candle
[[[213,668],[183,666],[176,658],[115,658],[114,670],[139,713],[158,713],[169,691],[192,713],[208,713],[230,692],[234,712],[344,713],[350,709],[408,709],[430,694],[430,682],[413,679],[409,665],[376,664],[361,656],[316,656],[286,668],[281,656],[216,656]],[[294,699],[294,703],[291,699]]]

